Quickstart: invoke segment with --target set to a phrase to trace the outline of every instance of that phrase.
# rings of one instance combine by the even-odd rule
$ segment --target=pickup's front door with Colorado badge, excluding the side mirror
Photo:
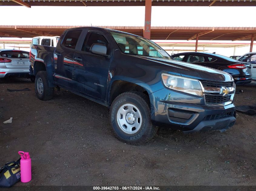
[[[88,31],[81,49],[74,55],[73,80],[85,85],[88,96],[98,100],[105,100],[108,81],[110,59],[90,52],[93,44],[107,47],[107,54],[111,55],[111,47],[107,38],[100,31]]]

